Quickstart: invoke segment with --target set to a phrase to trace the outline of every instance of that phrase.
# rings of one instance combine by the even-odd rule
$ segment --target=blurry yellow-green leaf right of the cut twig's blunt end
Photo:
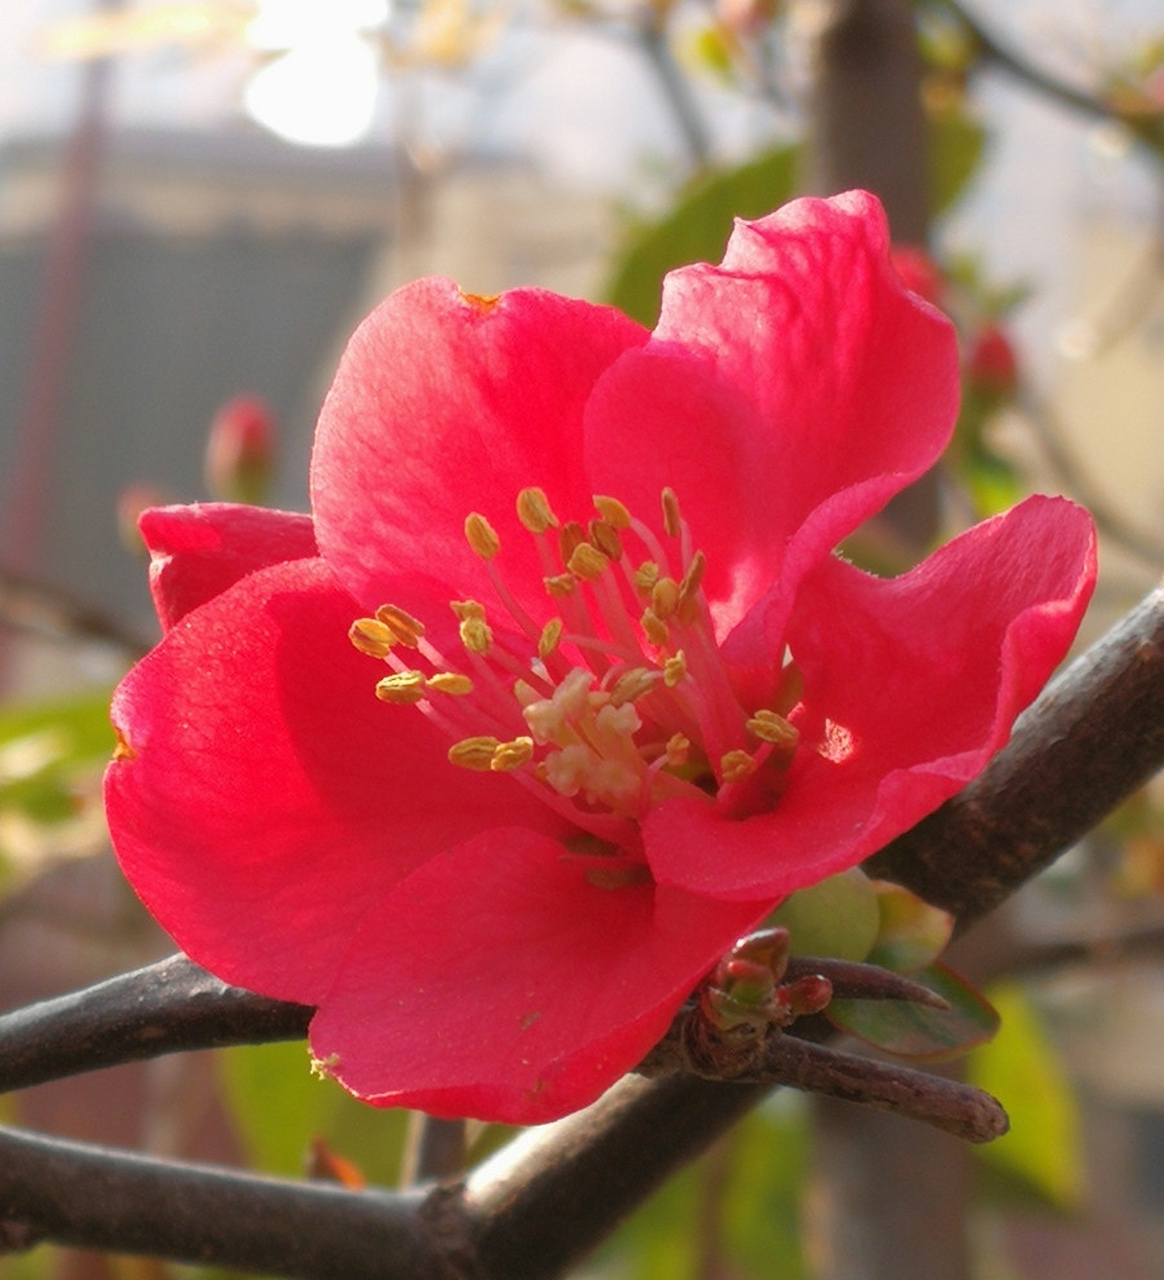
[[[1079,1116],[1059,1056],[1022,987],[1006,983],[990,995],[1003,1025],[974,1050],[967,1069],[971,1083],[1006,1108],[1010,1132],[977,1153],[1054,1207],[1078,1208],[1085,1189]]]

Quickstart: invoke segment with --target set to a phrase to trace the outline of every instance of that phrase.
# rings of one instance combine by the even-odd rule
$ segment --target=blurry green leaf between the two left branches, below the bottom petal
[[[369,1183],[400,1176],[408,1112],[357,1102],[309,1068],[302,1043],[254,1044],[220,1055],[222,1078],[255,1169],[302,1176],[314,1138],[324,1138]]]

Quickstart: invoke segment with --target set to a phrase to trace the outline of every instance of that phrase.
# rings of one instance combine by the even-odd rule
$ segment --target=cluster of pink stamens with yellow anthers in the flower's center
[[[740,704],[700,585],[707,562],[672,490],[662,493],[662,538],[616,498],[594,498],[586,525],[563,524],[530,488],[517,516],[546,571],[544,621],[519,603],[501,540],[474,512],[465,536],[505,626],[494,630],[476,599],[449,602],[464,649],[455,663],[417,618],[382,605],[348,632],[392,668],[376,696],[415,704],[452,741],[455,765],[507,773],[620,847],[670,796],[735,815],[771,805],[796,750],[786,714],[799,675],[785,666],[775,705]]]

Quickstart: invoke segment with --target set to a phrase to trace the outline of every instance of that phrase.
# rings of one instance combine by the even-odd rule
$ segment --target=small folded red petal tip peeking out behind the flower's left
[[[256,568],[318,554],[310,516],[263,507],[152,507],[140,527],[163,631]]]

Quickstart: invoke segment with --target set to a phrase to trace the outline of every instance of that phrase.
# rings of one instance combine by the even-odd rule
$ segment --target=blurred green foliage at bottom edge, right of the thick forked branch
[[[781,1098],[752,1112],[635,1213],[604,1249],[617,1280],[803,1280],[808,1123]]]

